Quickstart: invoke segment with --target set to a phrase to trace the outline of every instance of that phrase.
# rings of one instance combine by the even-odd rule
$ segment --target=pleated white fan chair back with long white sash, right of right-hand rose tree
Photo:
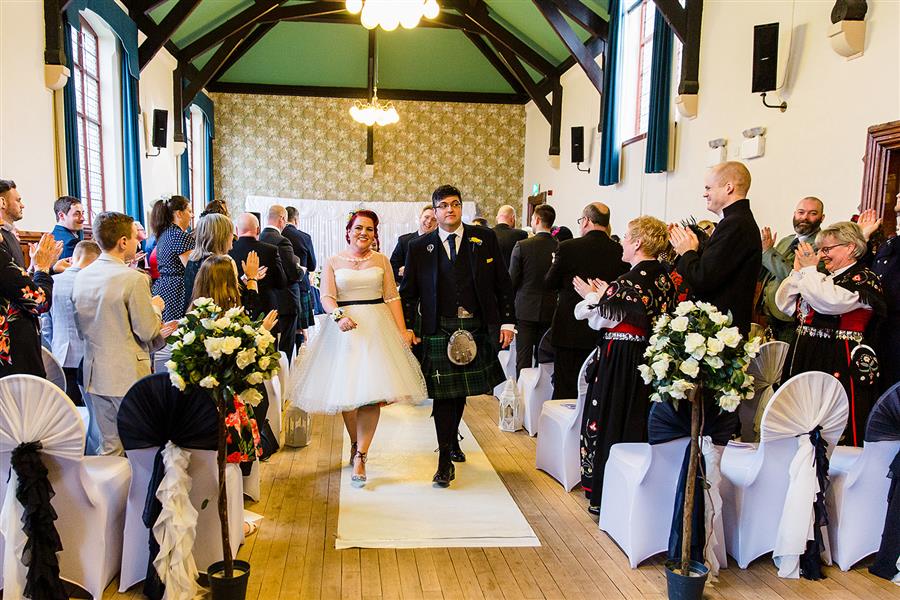
[[[772,552],[778,576],[797,579],[800,577],[800,556],[806,551],[806,541],[813,536],[813,501],[822,491],[816,478],[815,448],[807,434],[820,426],[830,453],[847,425],[849,407],[840,381],[827,373],[801,373],[792,377],[790,383],[792,385],[779,390],[781,401],[766,407],[761,434],[766,442],[797,440]],[[823,536],[827,540],[827,532],[823,532]],[[823,558],[826,564],[831,564],[830,555]]]

